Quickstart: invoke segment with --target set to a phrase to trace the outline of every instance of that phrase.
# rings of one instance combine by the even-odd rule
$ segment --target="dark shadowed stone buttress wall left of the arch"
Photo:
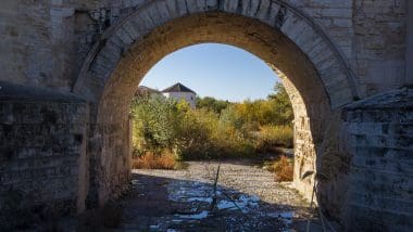
[[[87,124],[88,104],[77,96],[0,82],[2,229],[84,209]]]

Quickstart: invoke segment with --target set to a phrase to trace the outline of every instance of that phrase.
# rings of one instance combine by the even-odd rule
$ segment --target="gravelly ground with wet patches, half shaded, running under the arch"
[[[290,231],[310,216],[300,195],[246,162],[133,170],[118,231]]]

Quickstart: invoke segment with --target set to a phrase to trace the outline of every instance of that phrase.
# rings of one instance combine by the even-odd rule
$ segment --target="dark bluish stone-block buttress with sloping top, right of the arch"
[[[413,227],[413,90],[393,90],[345,108],[351,155],[345,224],[353,231]]]

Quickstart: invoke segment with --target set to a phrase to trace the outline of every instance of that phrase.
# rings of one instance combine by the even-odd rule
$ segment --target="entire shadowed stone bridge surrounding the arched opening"
[[[180,48],[217,42],[281,77],[300,193],[314,189],[350,231],[413,227],[412,1],[3,0],[0,20],[3,212],[116,198],[140,80]]]

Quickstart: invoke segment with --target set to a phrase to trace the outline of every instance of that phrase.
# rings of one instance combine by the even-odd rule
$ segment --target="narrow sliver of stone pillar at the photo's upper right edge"
[[[405,41],[405,85],[413,86],[413,1],[408,1]]]

